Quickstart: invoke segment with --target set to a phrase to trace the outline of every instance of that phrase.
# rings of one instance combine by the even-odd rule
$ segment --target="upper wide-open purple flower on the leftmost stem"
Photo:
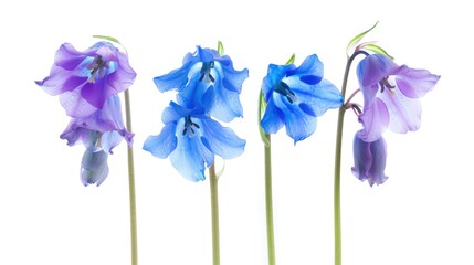
[[[35,83],[50,95],[60,95],[69,116],[85,118],[102,109],[110,96],[127,89],[135,76],[127,55],[108,42],[98,42],[84,52],[64,43],[50,75]]]

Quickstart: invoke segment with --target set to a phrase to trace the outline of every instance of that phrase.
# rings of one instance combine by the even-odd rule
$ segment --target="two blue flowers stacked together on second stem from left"
[[[170,157],[173,167],[188,180],[204,180],[204,169],[214,155],[223,159],[240,156],[245,140],[220,121],[242,117],[240,94],[249,77],[246,68],[236,71],[232,60],[212,49],[197,47],[185,56],[182,66],[157,76],[160,92],[176,89],[177,99],[165,108],[161,132],[149,136],[144,149],[155,157]]]

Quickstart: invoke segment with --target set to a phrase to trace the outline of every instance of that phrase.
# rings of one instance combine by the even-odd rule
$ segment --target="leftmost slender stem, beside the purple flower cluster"
[[[128,89],[125,91],[125,117],[127,130],[131,132],[131,115],[130,115],[130,95]],[[135,168],[134,168],[134,149],[129,145],[128,155],[128,190],[130,200],[130,240],[131,240],[131,265],[138,264],[138,247],[137,247],[137,206],[135,199]]]

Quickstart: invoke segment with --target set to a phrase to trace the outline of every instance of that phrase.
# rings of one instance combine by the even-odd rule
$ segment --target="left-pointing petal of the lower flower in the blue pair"
[[[158,136],[149,136],[144,144],[144,150],[155,157],[165,159],[177,147],[176,124],[167,124]]]

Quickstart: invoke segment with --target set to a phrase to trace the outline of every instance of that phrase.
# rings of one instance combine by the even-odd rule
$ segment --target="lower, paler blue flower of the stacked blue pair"
[[[169,156],[188,180],[204,180],[204,169],[214,162],[214,155],[232,159],[244,151],[245,140],[201,107],[189,109],[171,102],[161,119],[165,127],[159,135],[146,139],[144,149],[161,159]]]

